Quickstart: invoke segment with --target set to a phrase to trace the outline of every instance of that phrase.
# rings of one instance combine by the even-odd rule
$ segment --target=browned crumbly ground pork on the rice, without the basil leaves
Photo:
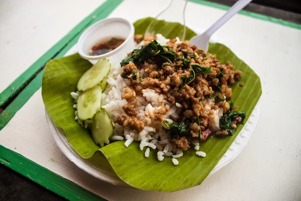
[[[136,42],[140,42],[142,38],[142,35],[135,36]],[[154,37],[145,37],[144,45],[153,40]],[[128,126],[134,132],[142,131],[144,124],[137,120],[137,113],[133,109],[136,94],[141,94],[146,88],[154,89],[168,100],[169,108],[176,103],[181,105],[182,111],[177,121],[189,122],[189,132],[185,134],[186,136],[176,135],[172,143],[174,147],[186,151],[190,148],[187,135],[193,139],[206,140],[213,132],[210,121],[214,121],[217,114],[208,112],[209,110],[229,113],[231,107],[225,99],[232,97],[232,89],[228,85],[239,80],[242,72],[234,71],[234,66],[229,62],[222,64],[215,55],[196,46],[190,46],[189,41],[179,43],[176,39],[172,39],[163,47],[161,52],[174,54],[174,58],[153,56],[142,62],[129,61],[125,65],[121,77],[126,79],[129,85],[123,89],[122,95],[122,99],[127,100],[127,104],[123,106],[126,114],[118,116],[115,123],[123,127]],[[160,52],[154,54],[158,53]],[[136,52],[133,51],[132,56],[135,55]],[[192,64],[197,64],[202,69],[210,69],[210,72],[195,72],[191,67]],[[164,106],[160,110],[155,110],[156,121],[162,123],[163,116],[168,112],[169,109]],[[236,123],[240,120],[235,120],[231,127],[236,128]],[[214,131],[216,135],[228,135],[225,130]]]

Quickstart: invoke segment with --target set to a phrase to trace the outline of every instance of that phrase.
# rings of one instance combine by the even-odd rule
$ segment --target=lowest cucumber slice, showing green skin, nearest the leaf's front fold
[[[113,124],[104,108],[101,108],[94,116],[91,131],[95,144],[103,147],[104,143],[110,143],[109,139],[113,136]]]

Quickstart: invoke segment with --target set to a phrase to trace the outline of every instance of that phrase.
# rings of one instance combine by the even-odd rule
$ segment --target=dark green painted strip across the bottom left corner
[[[17,160],[16,160],[17,159]],[[101,200],[106,199],[84,189],[76,183],[42,167],[10,149],[0,146],[0,163],[21,173],[47,189],[69,200]]]

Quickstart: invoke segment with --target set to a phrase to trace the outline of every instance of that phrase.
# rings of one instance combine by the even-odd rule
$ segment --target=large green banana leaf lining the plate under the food
[[[136,21],[135,33],[143,34],[150,21],[152,18]],[[182,26],[165,21],[157,23],[159,32],[166,38],[176,37],[177,30]],[[189,40],[194,35],[195,33],[187,28],[186,39]],[[232,85],[232,101],[240,111],[246,112],[248,119],[261,95],[258,75],[223,44],[210,44],[209,52],[215,54],[222,63],[230,61],[236,70],[243,71],[240,82],[244,83],[244,86],[239,87],[238,83]],[[78,54],[49,61],[42,83],[45,107],[54,123],[64,129],[69,143],[81,157],[91,158],[97,152],[99,168],[111,174],[115,172],[133,187],[176,191],[201,184],[243,128],[243,125],[238,125],[233,136],[209,138],[202,142],[200,150],[206,152],[205,158],[197,156],[194,149],[188,150],[178,159],[179,165],[174,165],[170,157],[158,161],[155,150],[150,150],[149,157],[145,158],[144,151],[139,149],[137,142],[133,142],[128,148],[124,146],[124,141],[113,142],[100,148],[93,142],[90,131],[74,120],[74,102],[70,95],[71,91],[76,90],[81,75],[90,67],[91,64]],[[104,156],[98,154],[98,151]],[[95,155],[92,158],[94,157]]]

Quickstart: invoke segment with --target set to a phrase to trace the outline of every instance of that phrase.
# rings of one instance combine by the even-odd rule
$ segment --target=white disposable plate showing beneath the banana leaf
[[[198,29],[195,29],[195,30],[198,31]],[[198,33],[200,33],[200,32],[201,31],[199,31]],[[222,41],[217,38],[214,38],[214,40],[211,40],[211,42],[222,43]],[[65,56],[74,54],[76,52],[77,52],[76,45],[74,45],[65,54]],[[71,160],[79,168],[81,168],[82,170],[86,171],[87,173],[91,174],[92,176],[94,176],[96,178],[99,178],[103,181],[106,181],[106,182],[109,182],[109,183],[115,184],[115,185],[129,186],[124,181],[122,181],[118,176],[107,173],[107,172],[103,171],[101,168],[97,167],[97,165],[94,164],[91,160],[83,159],[82,157],[80,157],[69,144],[63,129],[56,127],[56,125],[51,120],[51,118],[46,110],[45,110],[45,112],[46,112],[46,119],[47,119],[48,125],[50,127],[52,136],[53,136],[56,144],[60,148],[60,150],[65,154],[65,156],[69,160]],[[232,160],[234,160],[241,153],[241,151],[246,147],[246,145],[257,125],[257,122],[259,119],[259,113],[260,113],[260,99],[259,99],[257,105],[255,106],[251,116],[249,117],[248,121],[245,123],[243,129],[238,134],[238,136],[236,137],[235,141],[232,143],[230,148],[223,155],[221,160],[217,163],[217,165],[211,171],[209,176],[214,174],[218,170],[220,170],[222,167],[224,167],[225,165],[230,163]]]

